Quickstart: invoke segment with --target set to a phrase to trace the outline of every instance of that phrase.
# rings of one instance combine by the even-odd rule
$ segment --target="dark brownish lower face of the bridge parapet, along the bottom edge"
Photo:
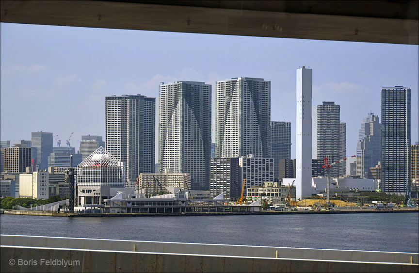
[[[32,264],[19,265],[19,258]],[[0,264],[1,272],[418,272],[413,264],[13,246],[1,247]]]

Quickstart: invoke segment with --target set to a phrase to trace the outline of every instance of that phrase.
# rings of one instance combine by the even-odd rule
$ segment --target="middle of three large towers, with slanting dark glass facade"
[[[191,174],[193,190],[210,189],[211,85],[197,81],[161,83],[160,171]]]

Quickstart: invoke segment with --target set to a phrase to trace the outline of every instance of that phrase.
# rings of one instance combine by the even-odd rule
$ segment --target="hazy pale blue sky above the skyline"
[[[291,122],[294,158],[300,65],[313,69],[314,137],[317,105],[335,101],[346,154],[355,155],[362,118],[372,111],[381,122],[381,88],[403,85],[412,89],[412,143],[419,140],[418,46],[8,23],[0,31],[0,139],[12,143],[43,130],[64,144],[74,132],[77,150],[81,135],[105,135],[105,96],[157,98],[160,82],[175,80],[212,84],[214,141],[215,81],[255,77],[271,81],[271,120]]]

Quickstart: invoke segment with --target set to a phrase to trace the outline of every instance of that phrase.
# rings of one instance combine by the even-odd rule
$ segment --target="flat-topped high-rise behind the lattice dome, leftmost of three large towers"
[[[124,163],[127,182],[154,171],[155,103],[140,94],[105,97],[106,150]]]

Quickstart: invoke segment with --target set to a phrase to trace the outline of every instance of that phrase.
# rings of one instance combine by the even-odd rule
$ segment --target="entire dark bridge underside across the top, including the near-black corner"
[[[417,0],[2,0],[1,22],[418,45]]]

